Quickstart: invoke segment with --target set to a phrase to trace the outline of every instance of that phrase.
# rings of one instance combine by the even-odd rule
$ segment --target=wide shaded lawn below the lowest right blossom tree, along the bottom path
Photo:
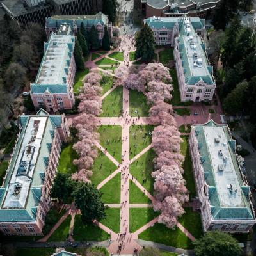
[[[193,249],[192,241],[179,228],[172,230],[159,223],[143,231],[138,238],[177,248]]]

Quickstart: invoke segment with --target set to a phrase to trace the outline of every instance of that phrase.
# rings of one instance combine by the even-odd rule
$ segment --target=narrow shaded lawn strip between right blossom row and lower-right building
[[[189,148],[188,148],[188,136],[181,136],[181,137],[184,140],[184,142],[180,145],[180,152],[183,156],[185,156],[185,161],[183,164],[183,168],[184,168],[183,177],[186,180],[186,188],[189,191],[189,198],[191,199],[196,196],[193,167],[192,167],[191,157],[190,157]]]

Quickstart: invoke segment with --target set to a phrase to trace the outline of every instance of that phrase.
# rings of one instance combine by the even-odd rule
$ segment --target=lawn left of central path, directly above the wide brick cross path
[[[119,116],[123,109],[123,87],[118,86],[102,102],[100,116]]]

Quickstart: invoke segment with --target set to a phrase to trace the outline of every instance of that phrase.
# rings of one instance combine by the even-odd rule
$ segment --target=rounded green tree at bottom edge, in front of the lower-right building
[[[207,232],[193,244],[196,256],[241,256],[243,253],[234,237],[220,231]]]

